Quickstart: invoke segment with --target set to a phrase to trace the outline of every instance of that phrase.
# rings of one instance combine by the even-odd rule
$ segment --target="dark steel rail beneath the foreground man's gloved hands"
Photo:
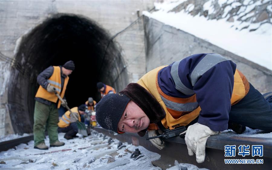
[[[122,142],[128,142],[134,144],[135,146],[143,146],[147,150],[152,152],[157,152],[161,155],[161,158],[157,161],[153,161],[152,164],[158,166],[162,169],[169,168],[168,165],[172,164],[175,160],[182,163],[189,163],[196,165],[199,168],[208,169],[271,169],[272,167],[272,141],[267,138],[259,137],[246,137],[246,136],[211,136],[208,138],[206,143],[206,158],[203,163],[197,163],[196,157],[189,156],[187,151],[187,146],[185,140],[180,137],[174,137],[165,142],[165,148],[162,150],[154,147],[151,142],[147,141],[144,137],[138,136],[136,133],[124,133],[122,135],[117,135],[117,133],[112,133],[108,130],[102,129],[101,127],[94,127],[94,130],[103,133],[104,135],[116,138]],[[263,156],[262,157],[252,157],[250,156],[240,156],[238,155],[238,148],[236,149],[235,157],[225,157],[225,145],[263,145]],[[263,164],[225,164],[224,159],[263,159]]]

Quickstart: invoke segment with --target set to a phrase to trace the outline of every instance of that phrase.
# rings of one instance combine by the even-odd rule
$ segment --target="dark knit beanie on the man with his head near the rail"
[[[130,98],[121,93],[105,95],[96,104],[96,121],[102,128],[119,133],[118,123],[129,101]]]

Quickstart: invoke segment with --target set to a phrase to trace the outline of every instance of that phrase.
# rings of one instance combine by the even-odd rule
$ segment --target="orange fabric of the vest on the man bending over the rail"
[[[167,108],[164,101],[162,100],[161,96],[163,96],[168,101],[173,101],[176,103],[189,103],[196,101],[196,95],[193,95],[189,98],[176,98],[171,97],[166,94],[164,94],[163,91],[161,91],[159,85],[158,85],[158,72],[160,69],[164,68],[166,66],[160,66],[156,69],[151,70],[150,72],[146,73],[141,79],[138,80],[138,84],[143,86],[147,91],[149,91],[154,98],[160,103],[161,107],[164,109],[166,116],[164,119],[161,120],[161,123],[165,128],[174,129],[178,126],[186,126],[191,121],[193,121],[196,117],[198,117],[199,112],[201,111],[200,106],[198,106],[195,110],[191,112],[187,112],[186,114],[180,114],[179,117],[176,117],[176,112],[174,110],[171,110],[170,108]],[[239,72],[237,69],[235,71],[234,75],[234,88],[232,91],[232,98],[231,98],[231,104],[236,104],[238,101],[240,101],[244,96],[248,93],[249,90],[249,82],[245,78],[245,76]],[[158,129],[157,125],[152,123],[148,127],[149,129]]]

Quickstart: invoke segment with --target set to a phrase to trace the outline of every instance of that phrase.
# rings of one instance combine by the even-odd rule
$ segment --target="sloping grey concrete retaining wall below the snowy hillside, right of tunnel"
[[[144,17],[146,71],[197,53],[218,53],[231,59],[261,93],[272,91],[272,71],[214,44],[152,18]]]

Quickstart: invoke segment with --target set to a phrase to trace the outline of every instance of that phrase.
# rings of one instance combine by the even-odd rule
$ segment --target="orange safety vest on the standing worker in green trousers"
[[[54,67],[53,74],[47,80],[47,82],[50,83],[50,85],[54,86],[56,88],[57,93],[60,95],[61,98],[63,98],[64,94],[65,94],[66,86],[69,81],[69,77],[66,76],[66,78],[64,79],[64,85],[63,85],[63,89],[61,91],[60,66],[53,66],[53,67]],[[57,103],[57,100],[58,100],[58,97],[56,96],[56,94],[54,92],[48,92],[41,85],[38,88],[38,91],[37,91],[35,97],[43,98],[45,100],[52,101],[54,103]],[[60,104],[61,104],[61,101],[58,102],[57,108],[60,108]]]

